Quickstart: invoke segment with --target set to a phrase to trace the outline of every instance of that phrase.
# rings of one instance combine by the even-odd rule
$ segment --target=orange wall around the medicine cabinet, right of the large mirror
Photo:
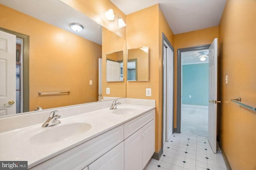
[[[160,23],[161,25],[156,23]],[[161,66],[162,63],[162,31],[170,42],[173,43],[173,34],[168,23],[162,15],[159,5],[156,4],[144,10],[134,12],[126,16],[126,48],[133,49],[143,46],[149,46],[150,51],[150,66],[149,66],[149,81],[146,82],[127,82],[126,97],[127,98],[142,98],[156,100],[156,145],[155,152],[159,152],[162,148],[162,98],[159,92],[162,87]],[[161,32],[161,33],[160,33]],[[161,37],[159,37],[161,36]],[[161,51],[161,52],[160,52]],[[152,96],[146,96],[146,88],[152,89]]]

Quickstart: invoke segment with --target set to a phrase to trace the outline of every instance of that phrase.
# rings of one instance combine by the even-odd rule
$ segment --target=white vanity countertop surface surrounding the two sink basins
[[[60,118],[61,123],[52,127],[41,127],[44,123],[42,122],[40,124],[2,132],[0,133],[0,160],[28,161],[28,168],[31,168],[155,108],[155,106],[120,104],[117,106],[117,109],[129,107],[136,108],[138,111],[127,114],[113,114],[112,111],[114,110],[105,108],[71,117],[65,117],[63,119]],[[59,111],[58,114],[61,115],[61,111]],[[70,122],[85,122],[92,125],[92,127],[90,130],[82,133],[82,135],[74,135],[60,142],[40,143],[40,141],[38,141],[36,144],[29,140],[31,137],[42,131],[62,126]],[[49,138],[51,138],[51,136],[49,136]]]

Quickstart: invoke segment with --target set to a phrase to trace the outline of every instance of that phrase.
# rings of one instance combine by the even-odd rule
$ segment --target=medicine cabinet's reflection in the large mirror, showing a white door
[[[124,51],[118,51],[106,55],[107,82],[123,81]]]

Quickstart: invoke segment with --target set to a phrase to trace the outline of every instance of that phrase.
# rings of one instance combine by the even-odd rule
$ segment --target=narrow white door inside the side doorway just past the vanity
[[[173,51],[170,47],[167,48],[166,63],[166,141],[169,141],[173,133]]]

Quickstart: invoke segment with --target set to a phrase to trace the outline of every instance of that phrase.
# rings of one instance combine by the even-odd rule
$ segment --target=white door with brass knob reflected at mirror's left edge
[[[16,103],[16,36],[0,31],[0,116],[16,113],[13,102]]]

